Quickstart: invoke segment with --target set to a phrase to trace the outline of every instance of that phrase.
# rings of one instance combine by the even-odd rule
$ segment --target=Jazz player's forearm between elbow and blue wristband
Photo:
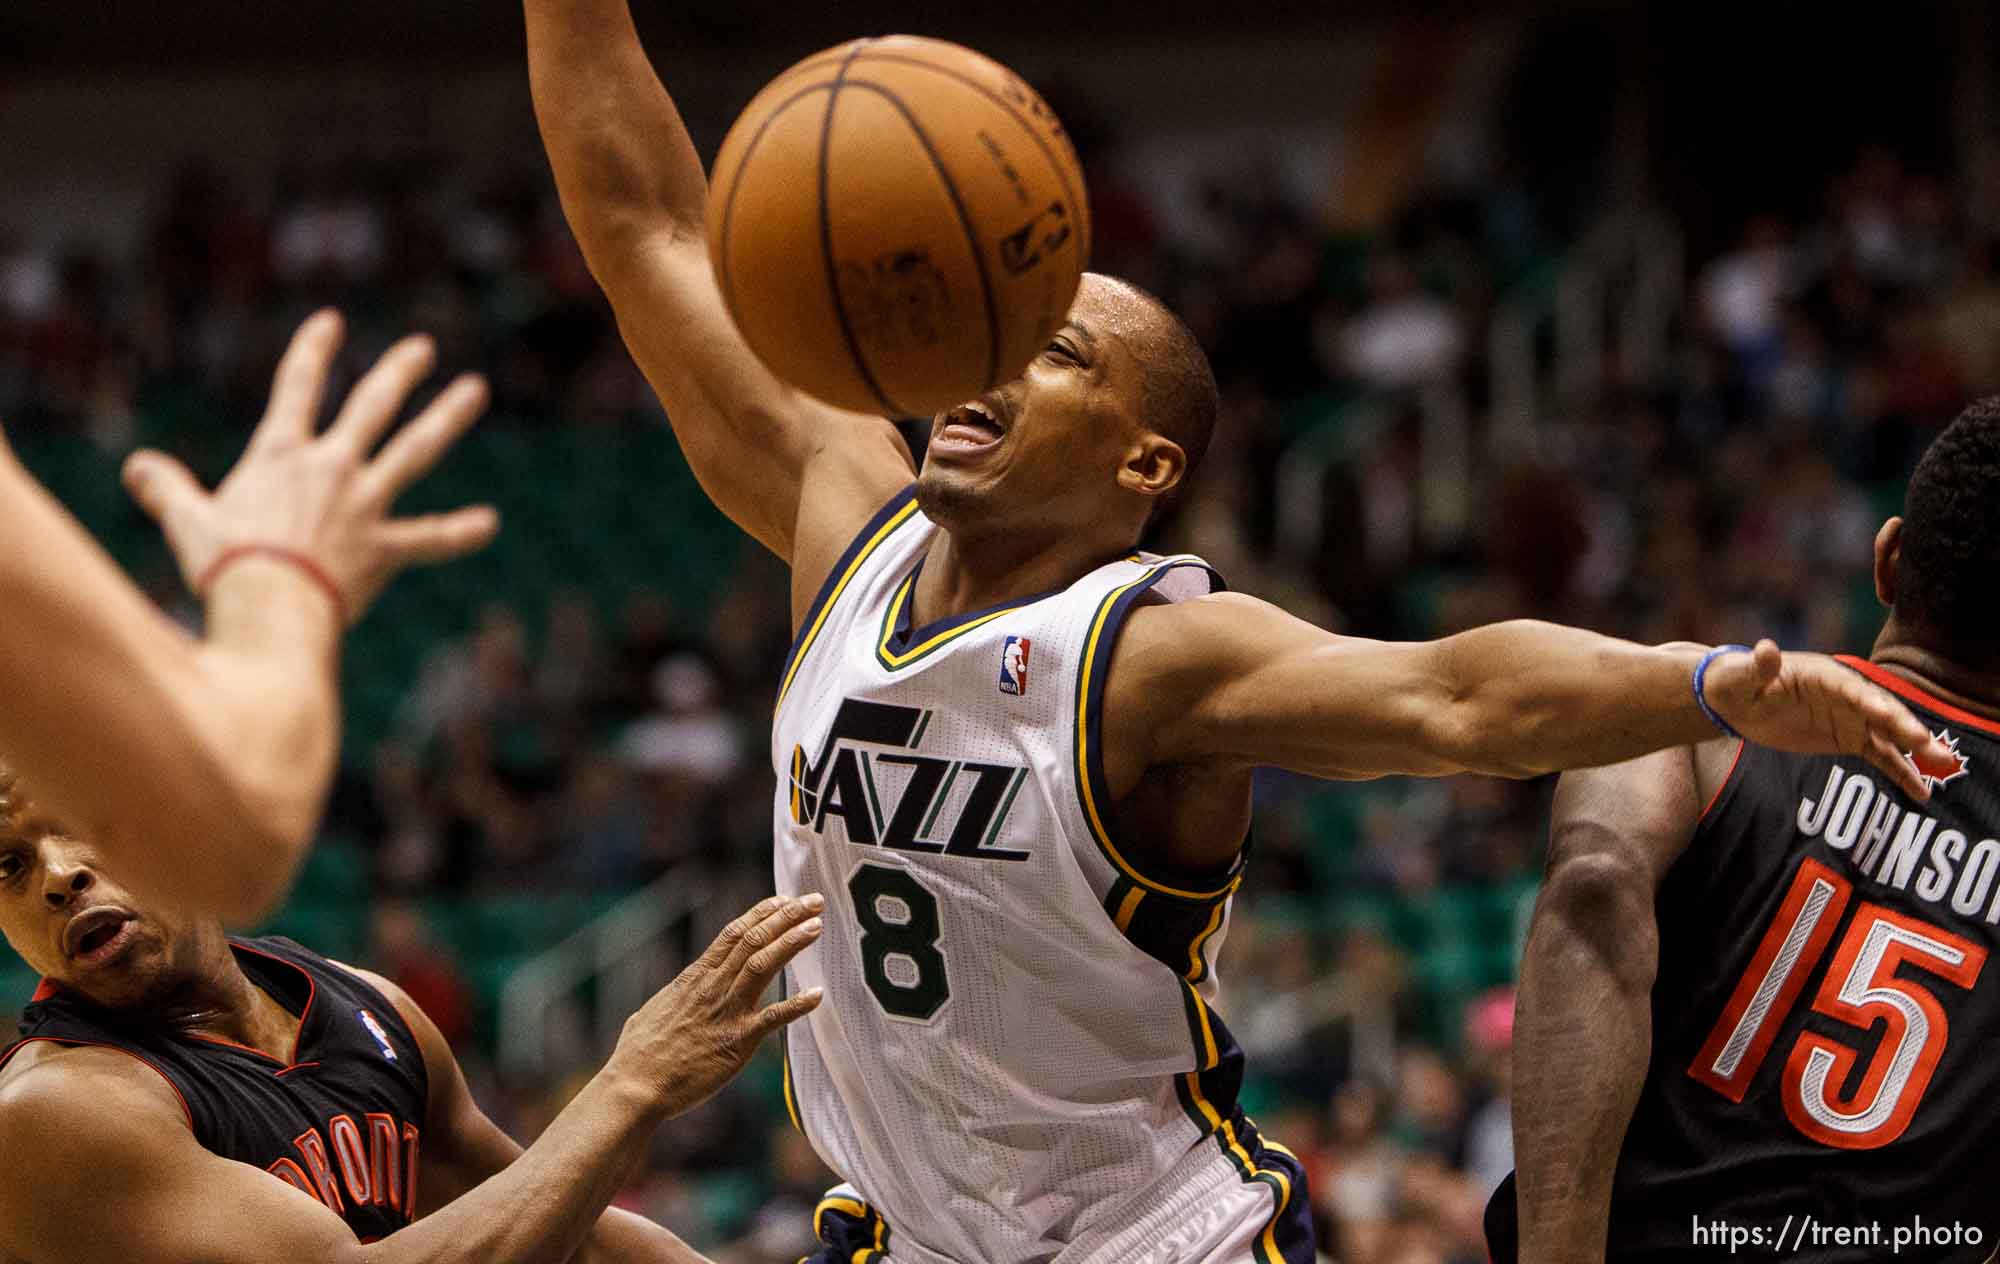
[[[1472,772],[1598,768],[1716,736],[1692,692],[1700,650],[1516,620],[1434,652],[1432,746]]]

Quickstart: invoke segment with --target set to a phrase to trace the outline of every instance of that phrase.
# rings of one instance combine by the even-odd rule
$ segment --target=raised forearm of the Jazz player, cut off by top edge
[[[644,230],[700,228],[702,160],[626,0],[526,0],[526,14],[534,116],[562,210],[606,282],[608,256]]]

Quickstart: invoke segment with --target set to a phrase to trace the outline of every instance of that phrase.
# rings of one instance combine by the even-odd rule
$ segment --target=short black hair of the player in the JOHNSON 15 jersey
[[[1896,622],[1966,666],[2000,666],[2000,396],[1960,412],[1916,462]]]

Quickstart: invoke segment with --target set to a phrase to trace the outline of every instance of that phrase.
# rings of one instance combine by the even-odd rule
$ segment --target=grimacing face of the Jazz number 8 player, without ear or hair
[[[932,420],[916,486],[924,514],[1028,538],[1102,522],[1140,438],[1130,302],[1084,276],[1068,324],[1020,378]]]

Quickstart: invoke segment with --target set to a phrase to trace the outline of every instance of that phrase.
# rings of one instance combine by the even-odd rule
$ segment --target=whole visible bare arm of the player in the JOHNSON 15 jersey
[[[1654,896],[1734,754],[1730,740],[1676,746],[1556,786],[1514,1002],[1520,1260],[1604,1260],[1612,1174],[1652,1052]]]

